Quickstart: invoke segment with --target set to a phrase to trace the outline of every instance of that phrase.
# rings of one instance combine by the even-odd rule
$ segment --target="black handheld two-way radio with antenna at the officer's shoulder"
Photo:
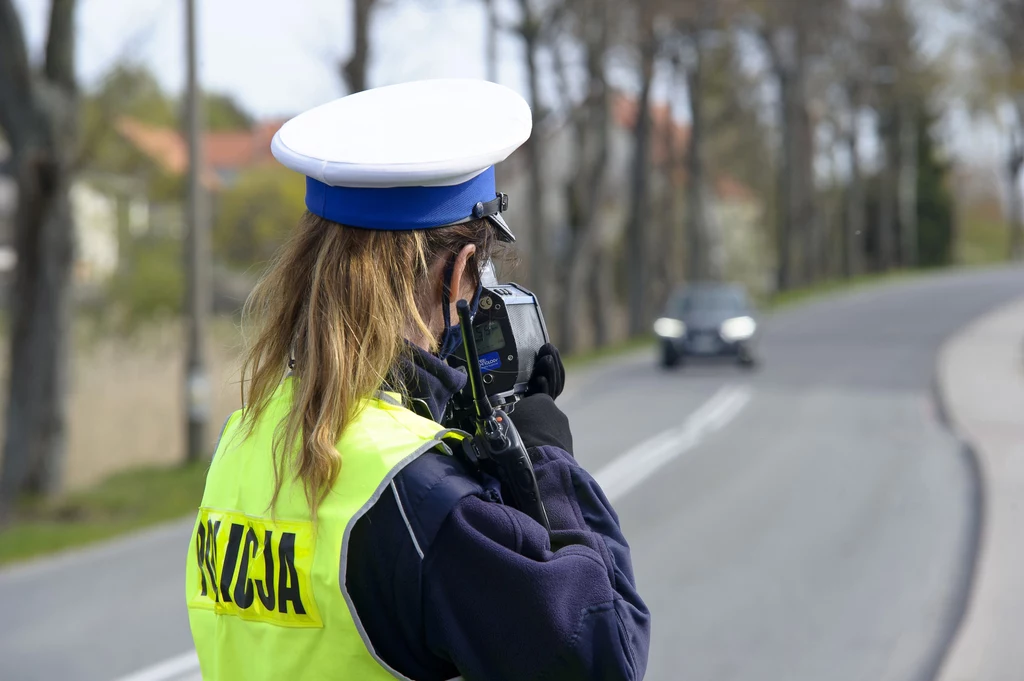
[[[463,419],[467,421],[464,428],[472,434],[472,437],[463,440],[463,458],[471,467],[501,480],[502,488],[512,495],[515,508],[532,517],[550,533],[551,523],[537,486],[534,464],[526,454],[519,431],[504,411],[492,407],[484,391],[484,374],[481,370],[483,358],[477,351],[478,334],[469,313],[469,304],[460,300],[456,308],[459,311],[468,377],[463,389],[465,398],[462,400],[462,409],[469,412]]]

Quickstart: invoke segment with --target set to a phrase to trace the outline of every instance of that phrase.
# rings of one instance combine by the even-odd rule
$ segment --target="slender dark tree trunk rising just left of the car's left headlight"
[[[630,335],[644,333],[647,324],[647,221],[649,197],[647,173],[650,153],[650,91],[654,80],[654,54],[657,49],[654,27],[645,27],[640,45],[640,96],[637,99],[636,122],[633,128],[633,177],[630,196],[629,222],[626,228],[627,266],[629,282]]]

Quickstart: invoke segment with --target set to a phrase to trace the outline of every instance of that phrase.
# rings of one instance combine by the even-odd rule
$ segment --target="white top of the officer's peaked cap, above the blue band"
[[[271,143],[282,164],[330,186],[452,186],[529,138],[529,105],[479,80],[366,90],[300,114]]]

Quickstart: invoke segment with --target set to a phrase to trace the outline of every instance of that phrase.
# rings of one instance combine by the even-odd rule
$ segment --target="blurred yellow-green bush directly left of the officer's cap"
[[[215,256],[237,267],[268,260],[305,210],[302,178],[280,166],[249,170],[218,197]]]

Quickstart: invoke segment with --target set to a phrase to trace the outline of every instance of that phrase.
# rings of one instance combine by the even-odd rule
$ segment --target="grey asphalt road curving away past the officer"
[[[648,679],[930,678],[979,520],[935,357],[1022,295],[1024,270],[912,280],[772,316],[753,373],[666,373],[645,352],[570,374],[578,456],[615,502],[653,613]],[[0,679],[194,678],[189,529],[0,572]]]

